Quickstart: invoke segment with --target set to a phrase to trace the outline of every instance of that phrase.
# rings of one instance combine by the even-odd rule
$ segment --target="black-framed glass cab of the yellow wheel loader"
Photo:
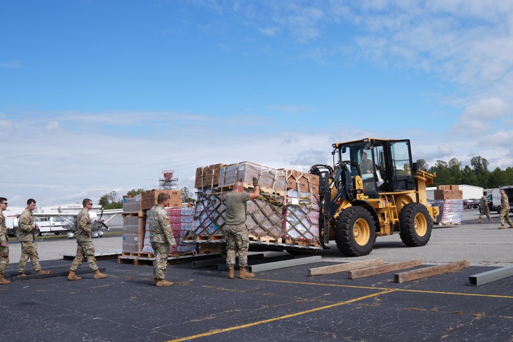
[[[411,161],[409,140],[363,139],[333,147],[339,163],[351,162],[346,165],[352,178],[358,175],[359,168],[366,195],[414,189],[416,163]]]

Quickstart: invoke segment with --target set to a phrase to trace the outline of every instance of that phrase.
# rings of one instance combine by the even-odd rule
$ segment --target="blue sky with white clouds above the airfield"
[[[158,188],[175,169],[308,170],[331,143],[513,164],[509,1],[4,1],[0,196]]]

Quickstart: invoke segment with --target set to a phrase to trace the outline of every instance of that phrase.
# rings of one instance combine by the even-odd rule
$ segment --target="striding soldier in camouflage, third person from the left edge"
[[[89,209],[92,207],[92,201],[85,198],[82,201],[83,209],[80,211],[77,218],[75,218],[75,228],[77,228],[77,255],[71,262],[69,268],[68,280],[80,280],[82,277],[75,275],[75,271],[82,264],[84,256],[87,259],[89,268],[94,271],[94,279],[102,279],[107,277],[107,274],[100,273],[96,258],[94,257],[94,244],[92,243],[91,232],[91,218],[89,217]]]

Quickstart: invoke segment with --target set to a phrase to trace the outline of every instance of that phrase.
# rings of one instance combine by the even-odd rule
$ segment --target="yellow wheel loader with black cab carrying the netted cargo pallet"
[[[320,239],[335,240],[346,256],[363,256],[376,236],[399,233],[408,246],[431,237],[439,208],[426,198],[434,175],[411,159],[409,140],[366,138],[333,146],[333,167],[314,165],[320,177]]]

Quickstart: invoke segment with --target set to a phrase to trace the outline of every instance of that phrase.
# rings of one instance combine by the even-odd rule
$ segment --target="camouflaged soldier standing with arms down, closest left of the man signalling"
[[[173,282],[166,281],[165,272],[167,267],[167,258],[171,246],[176,246],[175,238],[171,232],[169,216],[164,209],[169,205],[170,196],[160,193],[157,197],[157,203],[149,211],[149,242],[155,260],[153,261],[153,284],[156,286],[172,286]]]

